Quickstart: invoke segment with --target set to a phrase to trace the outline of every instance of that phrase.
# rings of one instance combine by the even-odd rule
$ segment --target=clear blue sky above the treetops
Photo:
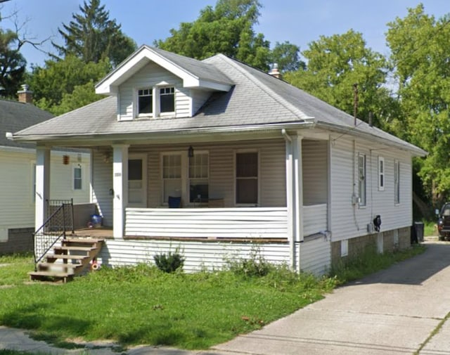
[[[89,1],[89,0],[86,0]],[[0,5],[2,27],[11,25],[5,18],[13,11],[18,13],[19,24],[24,24],[21,33],[34,41],[51,39],[63,44],[58,27],[68,25],[73,13],[80,13],[79,6],[84,0],[10,0]],[[361,32],[366,44],[373,51],[388,55],[385,45],[387,22],[404,18],[407,8],[415,8],[422,3],[425,13],[441,18],[450,13],[448,0],[260,0],[263,5],[259,24],[255,32],[264,34],[271,46],[278,42],[290,41],[300,46],[300,51],[308,49],[311,41],[321,35],[343,34],[352,29]],[[122,32],[142,44],[152,45],[153,41],[166,39],[172,28],[178,29],[181,22],[193,22],[200,10],[216,4],[216,0],[102,0],[101,4],[122,25]],[[50,41],[43,46],[53,51]],[[48,58],[30,45],[21,51],[28,67],[44,65]]]

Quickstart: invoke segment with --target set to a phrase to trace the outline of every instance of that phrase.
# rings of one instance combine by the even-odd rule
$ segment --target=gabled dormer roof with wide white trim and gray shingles
[[[96,85],[96,93],[107,95],[117,93],[117,87],[120,84],[139,72],[149,62],[156,63],[181,78],[184,87],[229,91],[233,86],[233,82],[223,73],[217,72],[213,65],[162,49],[141,46]]]

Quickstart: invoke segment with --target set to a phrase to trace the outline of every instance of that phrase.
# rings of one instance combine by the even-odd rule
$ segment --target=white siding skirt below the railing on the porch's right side
[[[318,238],[306,238],[300,244],[300,269],[316,276],[328,272],[331,264],[331,243],[325,235]]]

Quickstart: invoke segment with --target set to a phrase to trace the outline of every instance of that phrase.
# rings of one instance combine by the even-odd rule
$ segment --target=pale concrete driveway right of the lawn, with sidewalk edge
[[[425,243],[413,259],[335,290],[325,299],[207,351],[136,347],[127,355],[450,354],[450,243]],[[51,349],[0,327],[0,349]],[[89,355],[112,354],[91,349]],[[125,353],[122,353],[125,354]]]

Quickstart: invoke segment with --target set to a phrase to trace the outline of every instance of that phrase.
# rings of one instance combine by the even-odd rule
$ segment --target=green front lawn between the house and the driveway
[[[74,340],[83,339],[113,340],[124,347],[207,349],[316,302],[338,284],[423,250],[415,247],[388,258],[366,254],[371,261],[364,267],[362,259],[347,262],[327,278],[297,275],[284,266],[260,267],[264,260],[253,259],[235,262],[229,271],[195,274],[163,273],[145,264],[103,268],[58,286],[24,283],[32,258],[15,257],[0,267],[0,282],[6,285],[8,277],[12,285],[0,287],[0,324],[31,330],[35,339],[58,347],[75,347]]]

